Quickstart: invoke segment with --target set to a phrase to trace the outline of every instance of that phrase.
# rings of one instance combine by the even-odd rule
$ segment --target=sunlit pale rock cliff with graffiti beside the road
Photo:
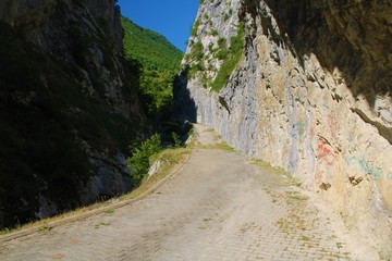
[[[205,0],[179,116],[283,167],[390,257],[391,28],[390,1]]]

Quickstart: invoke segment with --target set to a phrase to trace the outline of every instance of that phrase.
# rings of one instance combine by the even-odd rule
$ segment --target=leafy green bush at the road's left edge
[[[131,170],[131,177],[136,186],[148,173],[150,167],[150,157],[162,150],[161,138],[159,134],[152,135],[149,139],[142,142],[140,146],[134,148],[132,157],[126,160],[127,167]]]

